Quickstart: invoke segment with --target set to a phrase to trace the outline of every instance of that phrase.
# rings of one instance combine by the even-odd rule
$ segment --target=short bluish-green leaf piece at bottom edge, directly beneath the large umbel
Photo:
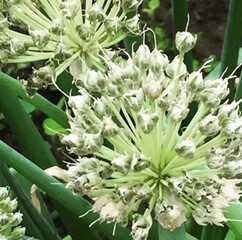
[[[161,227],[158,224],[159,240],[184,240],[186,239],[186,229],[183,224],[181,227],[176,228],[174,231],[170,231]]]

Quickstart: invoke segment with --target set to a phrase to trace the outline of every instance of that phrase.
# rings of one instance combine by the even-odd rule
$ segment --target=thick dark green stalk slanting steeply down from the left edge
[[[56,165],[56,160],[16,94],[0,81],[0,109],[14,132],[24,154],[41,168]]]

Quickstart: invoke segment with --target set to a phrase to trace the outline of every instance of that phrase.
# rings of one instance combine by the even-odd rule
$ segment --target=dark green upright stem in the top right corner
[[[242,39],[242,0],[231,0],[228,12],[227,27],[224,36],[223,50],[221,56],[221,70],[225,77],[229,76],[237,66],[240,43]],[[229,100],[233,100],[235,93],[234,80],[229,80]]]

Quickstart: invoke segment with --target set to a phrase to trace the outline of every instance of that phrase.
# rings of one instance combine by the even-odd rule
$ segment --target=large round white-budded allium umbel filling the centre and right
[[[63,141],[78,159],[67,187],[93,199],[100,221],[132,222],[133,239],[146,239],[154,219],[171,231],[191,215],[200,225],[222,225],[241,195],[238,103],[222,103],[228,79],[187,72],[186,40],[177,41],[171,62],[146,45],[127,60],[106,59],[108,71],[87,70],[80,94],[69,97]],[[192,102],[198,108],[184,126]]]

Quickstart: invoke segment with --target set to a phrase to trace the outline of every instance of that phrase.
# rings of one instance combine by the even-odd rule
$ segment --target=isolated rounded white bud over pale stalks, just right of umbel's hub
[[[175,151],[183,158],[193,158],[196,145],[192,140],[183,140],[176,145]]]

